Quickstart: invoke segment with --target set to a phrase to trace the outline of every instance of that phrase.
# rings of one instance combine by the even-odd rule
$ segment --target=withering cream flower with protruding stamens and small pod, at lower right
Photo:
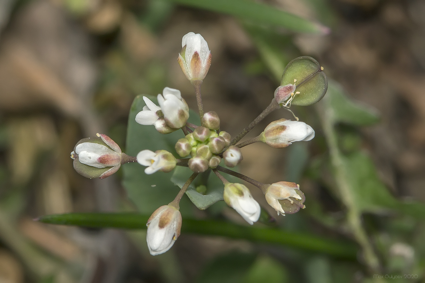
[[[267,203],[278,212],[278,215],[292,214],[300,208],[305,208],[303,202],[306,198],[300,191],[300,186],[293,182],[281,181],[271,184],[267,187],[265,195]]]

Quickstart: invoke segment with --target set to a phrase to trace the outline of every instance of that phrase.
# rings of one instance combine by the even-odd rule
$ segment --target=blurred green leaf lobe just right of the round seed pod
[[[336,82],[329,83],[328,99],[333,111],[334,122],[344,122],[358,126],[373,125],[379,121],[377,110],[360,102],[353,102],[344,95]]]

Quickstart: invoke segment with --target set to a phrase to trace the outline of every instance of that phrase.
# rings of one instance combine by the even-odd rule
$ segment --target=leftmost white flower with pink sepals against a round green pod
[[[106,178],[121,166],[122,152],[118,144],[104,134],[81,139],[71,152],[74,169],[87,178]]]

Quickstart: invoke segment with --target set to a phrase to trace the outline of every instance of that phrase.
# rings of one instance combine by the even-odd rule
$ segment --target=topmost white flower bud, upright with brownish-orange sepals
[[[211,65],[211,52],[201,34],[190,32],[181,40],[178,63],[187,79],[204,79]]]

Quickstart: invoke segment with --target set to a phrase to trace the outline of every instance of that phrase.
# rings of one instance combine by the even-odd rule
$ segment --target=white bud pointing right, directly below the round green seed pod
[[[309,141],[314,138],[314,130],[304,122],[280,119],[271,122],[260,134],[262,142],[271,147],[287,147],[292,142]]]

